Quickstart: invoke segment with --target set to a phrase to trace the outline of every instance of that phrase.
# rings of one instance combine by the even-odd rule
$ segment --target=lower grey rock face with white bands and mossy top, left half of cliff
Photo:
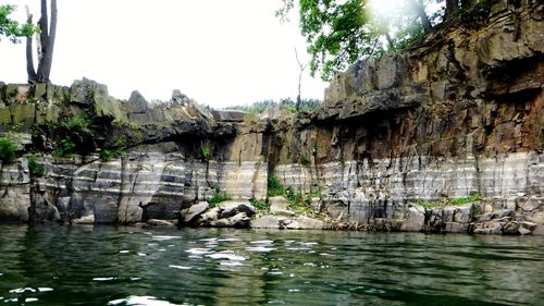
[[[157,103],[137,91],[115,100],[89,79],[0,91],[3,136],[22,155],[2,162],[2,221],[136,223],[177,219],[219,191],[234,199],[267,196],[262,127],[215,121],[176,90]],[[30,156],[44,175],[29,175]]]

